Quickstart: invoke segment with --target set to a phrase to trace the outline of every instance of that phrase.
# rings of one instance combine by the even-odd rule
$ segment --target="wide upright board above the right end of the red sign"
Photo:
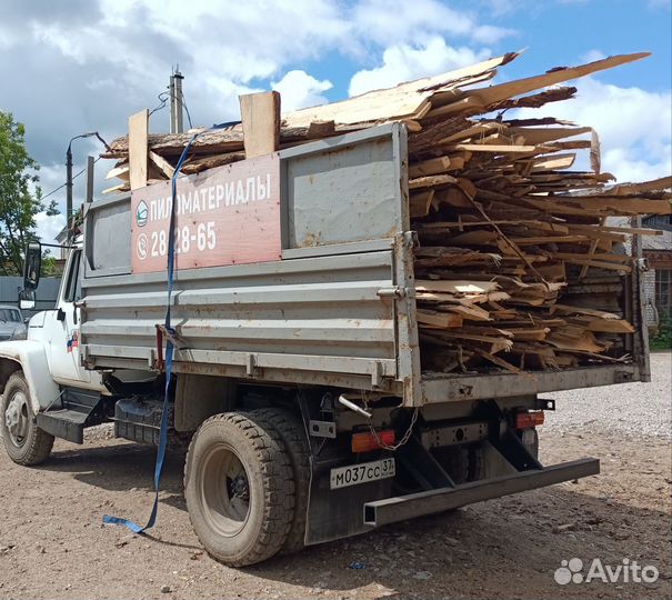
[[[239,97],[245,158],[270,154],[280,147],[280,93]]]

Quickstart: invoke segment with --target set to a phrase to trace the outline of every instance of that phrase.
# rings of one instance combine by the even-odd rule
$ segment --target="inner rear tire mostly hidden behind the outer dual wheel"
[[[289,456],[294,479],[294,513],[292,527],[282,546],[281,553],[299,552],[304,548],[305,523],[308,520],[308,499],[310,494],[310,449],[303,421],[291,412],[278,408],[253,411],[275,428]]]

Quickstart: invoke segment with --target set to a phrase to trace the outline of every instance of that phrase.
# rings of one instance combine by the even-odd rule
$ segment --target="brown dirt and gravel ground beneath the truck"
[[[652,363],[651,384],[555,396],[542,462],[594,456],[600,476],[244,570],[201,551],[182,497],[182,456],[168,460],[158,527],[138,537],[101,518],[147,519],[153,449],[98,431],[83,447],[57,442],[37,469],[2,451],[0,598],[670,598],[670,354]],[[554,572],[572,558],[583,574],[593,559],[612,568],[629,559],[660,578],[560,586]]]

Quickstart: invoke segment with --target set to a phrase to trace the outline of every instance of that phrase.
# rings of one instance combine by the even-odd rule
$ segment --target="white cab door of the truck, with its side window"
[[[66,386],[101,389],[99,373],[84,369],[79,353],[82,251],[72,250],[59,291],[57,310],[50,311],[44,322],[49,347],[49,363],[54,381]]]

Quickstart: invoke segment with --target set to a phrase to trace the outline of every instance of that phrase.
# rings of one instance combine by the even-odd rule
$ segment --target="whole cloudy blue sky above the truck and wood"
[[[12,84],[0,88],[0,110],[26,124],[48,192],[64,180],[68,140],[124,134],[129,114],[157,106],[175,63],[194,126],[209,126],[239,118],[240,93],[269,88],[292,110],[523,48],[498,80],[648,50],[646,60],[571,82],[576,99],[536,114],[595,127],[604,169],[644,180],[672,170],[671,2],[3,0],[0,69]],[[168,110],[150,127],[166,131]],[[77,171],[100,147],[79,140],[73,150]],[[98,191],[112,166],[98,162]],[[64,190],[53,198],[63,207]],[[63,222],[41,216],[39,231],[48,241]]]

